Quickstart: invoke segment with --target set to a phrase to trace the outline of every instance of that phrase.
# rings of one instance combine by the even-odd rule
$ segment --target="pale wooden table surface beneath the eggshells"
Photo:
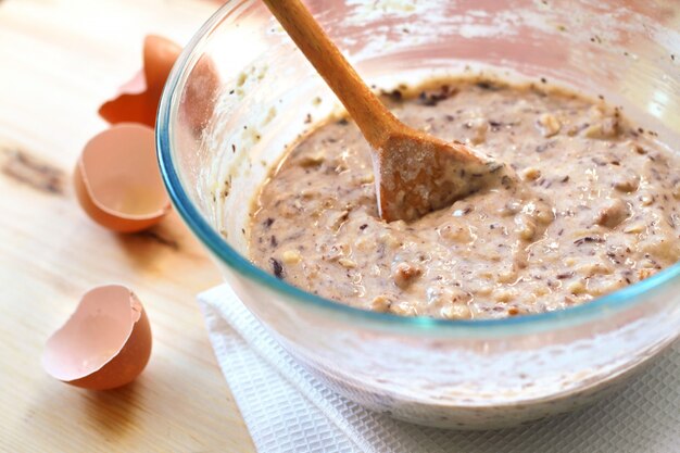
[[[72,168],[147,34],[186,43],[207,0],[0,0],[0,451],[253,452],[196,303],[219,282],[176,214],[119,236],[80,210]],[[153,330],[137,381],[70,387],[40,366],[80,294],[122,282]]]

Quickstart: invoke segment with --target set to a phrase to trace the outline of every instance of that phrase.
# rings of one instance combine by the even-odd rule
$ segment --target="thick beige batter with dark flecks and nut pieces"
[[[584,303],[680,260],[678,153],[618,109],[546,87],[452,80],[389,96],[406,124],[520,177],[412,224],[378,218],[367,143],[351,122],[326,124],[263,187],[253,262],[361,309],[498,318]]]

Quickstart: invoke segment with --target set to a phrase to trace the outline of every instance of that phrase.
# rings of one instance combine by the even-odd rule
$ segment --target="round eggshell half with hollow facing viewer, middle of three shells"
[[[95,136],[78,159],[74,184],[85,212],[114,231],[149,228],[169,210],[148,126],[121,124]]]

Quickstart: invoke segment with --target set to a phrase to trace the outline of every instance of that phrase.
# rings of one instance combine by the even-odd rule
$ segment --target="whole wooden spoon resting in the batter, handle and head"
[[[361,79],[300,0],[263,0],[344,104],[373,150],[378,212],[413,221],[480,190],[503,164],[401,123]]]

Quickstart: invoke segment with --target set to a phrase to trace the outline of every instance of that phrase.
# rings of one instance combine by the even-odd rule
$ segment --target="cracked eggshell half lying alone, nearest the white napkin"
[[[83,295],[47,342],[42,367],[52,377],[92,390],[131,382],[151,355],[151,327],[137,295],[119,285]]]

